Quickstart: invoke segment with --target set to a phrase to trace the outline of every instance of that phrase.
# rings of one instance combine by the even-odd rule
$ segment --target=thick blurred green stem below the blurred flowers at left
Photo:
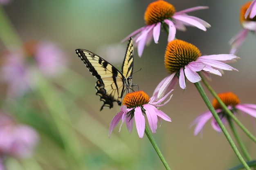
[[[72,124],[72,121],[67,113],[66,105],[63,103],[61,96],[56,93],[56,89],[52,88],[46,79],[40,76],[40,73],[38,73],[37,78],[38,95],[43,99],[49,109],[49,113],[63,141],[64,149],[67,154],[67,165],[69,166],[67,169],[83,169],[83,156],[79,139],[76,136],[76,131],[69,126],[69,124]],[[75,162],[70,161],[72,159]]]

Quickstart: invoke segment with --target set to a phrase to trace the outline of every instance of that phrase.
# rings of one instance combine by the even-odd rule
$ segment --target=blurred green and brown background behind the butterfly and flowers
[[[87,49],[121,68],[126,43],[121,44],[120,41],[144,26],[144,11],[150,2],[153,1],[12,0],[1,7],[2,13],[6,13],[22,42],[56,42],[68,61],[68,70],[50,80],[52,91],[58,91],[58,95],[55,95],[57,97],[51,102],[47,100],[51,98],[51,94],[47,96],[49,98],[45,98],[47,102],[31,92],[17,99],[18,102],[13,102],[15,99],[12,99],[6,104],[8,87],[2,82],[1,110],[4,108],[18,122],[32,126],[40,135],[32,157],[22,160],[9,157],[5,160],[9,170],[164,170],[146,136],[139,139],[136,129],[129,134],[125,126],[120,133],[116,128],[111,138],[108,138],[108,126],[112,117],[119,112],[119,106],[115,104],[111,110],[104,108],[99,111],[102,103],[95,95],[96,79],[74,52],[78,48]],[[191,12],[189,15],[207,21],[211,28],[204,32],[187,27],[186,32],[177,31],[176,37],[194,44],[205,55],[229,53],[229,40],[242,29],[239,13],[240,6],[246,0],[167,2],[173,4],[176,11],[209,6],[209,9]],[[212,76],[210,84],[217,93],[232,91],[240,98],[241,103],[256,104],[255,42],[255,35],[250,33],[237,53],[241,60],[231,64],[239,72],[225,71],[222,77]],[[159,44],[152,42],[144,49],[141,58],[137,55],[137,49],[135,50],[133,83],[139,84],[139,89],[148,95],[152,95],[157,84],[168,75],[163,62],[166,44],[167,35],[162,32]],[[6,49],[8,47],[0,42],[0,51]],[[47,95],[47,92],[44,94]],[[56,118],[48,113],[51,112],[49,107],[53,107],[52,110],[60,108],[56,109],[59,111]],[[225,136],[214,131],[210,122],[206,124],[202,136],[193,135],[194,127],[190,127],[190,124],[207,107],[192,83],[188,82],[184,91],[177,86],[173,98],[162,110],[171,117],[172,122],[162,122],[153,136],[171,169],[225,170],[240,164]],[[249,116],[238,115],[238,118],[256,135],[255,124]],[[62,130],[67,132],[67,138],[58,135],[61,131],[56,125],[59,124],[58,121],[64,121]],[[255,159],[256,145],[238,127],[237,129]]]

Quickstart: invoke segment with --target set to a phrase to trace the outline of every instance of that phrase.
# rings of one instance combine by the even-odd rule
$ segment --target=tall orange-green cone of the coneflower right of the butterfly
[[[199,49],[188,42],[173,40],[166,46],[164,55],[164,66],[168,73],[180,71],[190,62],[201,56]]]

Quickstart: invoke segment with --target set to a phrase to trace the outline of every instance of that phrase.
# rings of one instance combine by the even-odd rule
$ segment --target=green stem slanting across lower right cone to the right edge
[[[217,93],[213,90],[213,88],[211,88],[211,86],[207,83],[207,81],[205,81],[202,78],[202,82],[208,88],[208,90],[213,95],[213,97],[216,98],[220,106],[222,106],[222,108],[229,115],[229,117],[231,117],[236,122],[236,124],[245,132],[245,134],[256,143],[256,137],[254,137],[254,135],[252,135],[252,133],[249,132],[249,130],[247,130],[247,128],[245,128],[245,126],[243,126],[243,124],[237,119],[237,117],[227,108],[227,106],[222,102],[220,97],[218,97]]]

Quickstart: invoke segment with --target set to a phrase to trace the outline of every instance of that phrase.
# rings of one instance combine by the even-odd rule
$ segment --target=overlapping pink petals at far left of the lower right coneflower
[[[212,114],[210,111],[207,111],[205,113],[203,113],[202,115],[200,115],[199,117],[197,117],[191,124],[191,126],[193,126],[194,124],[197,124],[195,126],[195,130],[194,130],[194,135],[198,135],[198,133],[200,131],[202,131],[204,125],[206,124],[206,122],[211,119]]]

